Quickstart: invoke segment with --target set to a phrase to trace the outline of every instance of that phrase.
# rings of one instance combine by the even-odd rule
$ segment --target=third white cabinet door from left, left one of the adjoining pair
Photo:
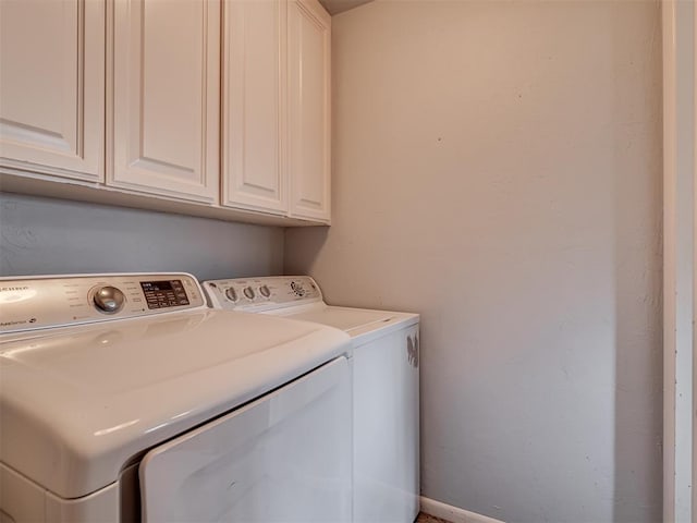
[[[223,3],[222,204],[285,212],[284,0]]]

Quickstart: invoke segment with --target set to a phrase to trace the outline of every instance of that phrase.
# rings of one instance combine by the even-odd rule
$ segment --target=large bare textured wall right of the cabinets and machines
[[[423,315],[423,491],[661,519],[660,8],[380,1],[333,21],[334,304]]]

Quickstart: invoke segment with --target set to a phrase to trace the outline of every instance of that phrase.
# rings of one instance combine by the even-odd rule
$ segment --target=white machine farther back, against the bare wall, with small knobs
[[[206,281],[204,290],[217,308],[283,315],[351,336],[353,520],[412,523],[419,509],[419,316],[327,305],[309,277]]]

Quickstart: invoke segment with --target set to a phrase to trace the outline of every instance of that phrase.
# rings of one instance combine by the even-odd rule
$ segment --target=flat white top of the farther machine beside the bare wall
[[[289,308],[283,316],[341,329],[351,336],[354,346],[368,343],[376,338],[414,325],[419,320],[418,314],[335,307],[331,305],[308,309],[301,307]]]

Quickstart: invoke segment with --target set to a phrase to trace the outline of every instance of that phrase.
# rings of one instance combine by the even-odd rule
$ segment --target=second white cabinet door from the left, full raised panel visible
[[[220,3],[113,3],[112,186],[215,203]]]

